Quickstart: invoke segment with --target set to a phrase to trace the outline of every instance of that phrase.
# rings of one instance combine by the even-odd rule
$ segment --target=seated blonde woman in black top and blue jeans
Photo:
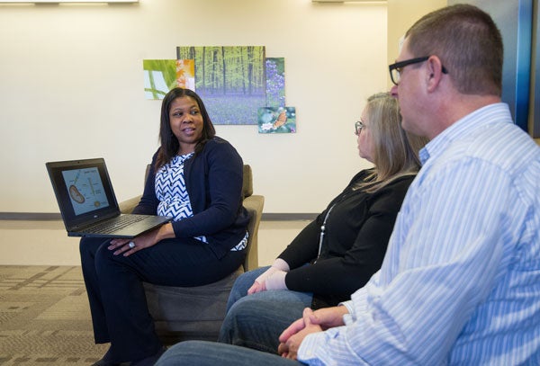
[[[221,343],[276,353],[279,335],[304,308],[350,299],[381,267],[426,140],[401,129],[398,101],[387,93],[367,100],[356,135],[360,156],[374,167],[356,174],[271,267],[238,278]]]

